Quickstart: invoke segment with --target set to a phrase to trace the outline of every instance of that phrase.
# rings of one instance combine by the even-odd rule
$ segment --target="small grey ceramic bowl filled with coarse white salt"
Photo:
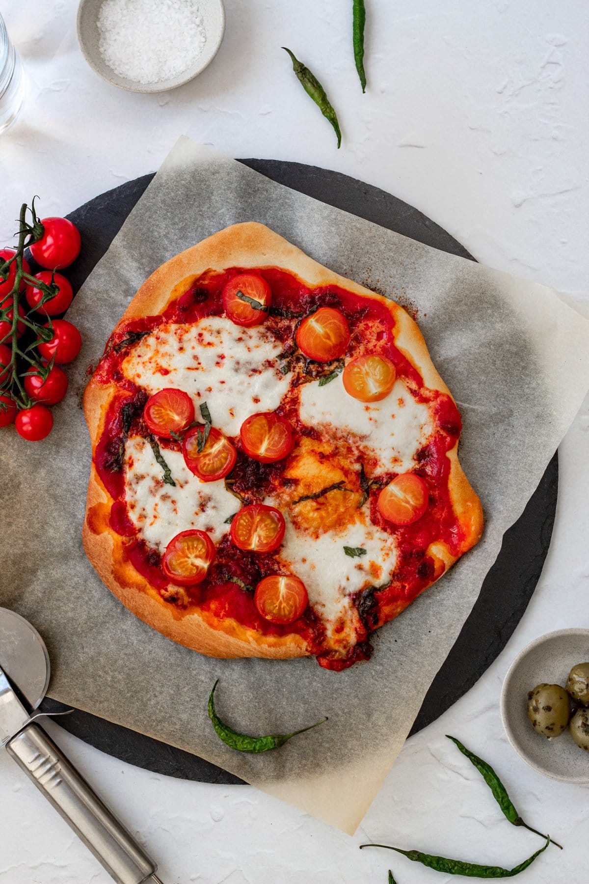
[[[223,0],[81,0],[78,41],[113,86],[165,92],[193,80],[223,41]]]

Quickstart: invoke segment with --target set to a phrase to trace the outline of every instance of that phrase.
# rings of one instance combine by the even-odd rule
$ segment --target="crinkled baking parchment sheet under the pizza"
[[[79,394],[132,295],[163,261],[226,225],[267,224],[334,271],[419,309],[434,363],[464,419],[460,458],[486,514],[480,544],[374,636],[343,673],[314,659],[215,660],[163,638],[104,587],[82,550],[90,445]],[[275,184],[185,138],[75,299],[84,347],[55,430],[0,439],[0,605],[49,647],[49,694],[193,751],[353,832],[404,743],[499,552],[589,386],[589,323],[551,290],[389,232]],[[249,756],[216,737],[218,712],[252,734],[328,723]]]

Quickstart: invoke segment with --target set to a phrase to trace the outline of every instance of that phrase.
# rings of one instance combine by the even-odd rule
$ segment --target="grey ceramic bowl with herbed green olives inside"
[[[589,629],[559,629],[517,655],[502,687],[505,732],[547,777],[589,783]]]

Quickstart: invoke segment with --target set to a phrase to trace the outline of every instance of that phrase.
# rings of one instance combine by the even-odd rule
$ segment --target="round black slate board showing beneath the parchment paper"
[[[403,233],[427,246],[474,260],[442,227],[377,187],[316,166],[279,160],[248,159],[240,162],[280,184],[338,209]],[[78,225],[82,236],[81,254],[66,271],[74,291],[79,289],[94,264],[109,248],[152,178],[153,174],[128,181],[97,196],[68,216]],[[487,574],[480,597],[464,623],[456,644],[427,692],[412,733],[425,728],[472,688],[516,628],[532,598],[546,559],[555,521],[557,487],[558,460],[555,454],[524,513],[506,531],[501,552]],[[49,698],[42,704],[45,712],[65,708]],[[61,718],[59,724],[109,755],[155,773],[203,782],[241,782],[238,777],[203,758],[89,713],[76,710]]]

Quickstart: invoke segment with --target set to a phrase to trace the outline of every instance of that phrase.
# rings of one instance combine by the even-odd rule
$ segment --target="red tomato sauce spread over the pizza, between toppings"
[[[110,403],[104,430],[94,454],[98,475],[109,494],[115,499],[110,514],[110,526],[124,538],[125,553],[133,567],[157,591],[162,592],[164,598],[169,598],[170,592],[164,592],[169,583],[162,572],[160,554],[150,549],[138,537],[125,504],[123,468],[125,436],[138,431],[146,435],[147,429],[142,421],[142,412],[147,394],[125,377],[121,363],[134,343],[161,324],[193,324],[205,316],[222,315],[223,286],[230,278],[242,272],[244,270],[241,268],[232,268],[223,273],[206,271],[193,281],[185,293],[170,301],[161,315],[130,320],[123,328],[113,333],[96,370],[97,379],[103,383],[114,381],[120,390]],[[283,342],[285,358],[295,353],[292,318],[305,316],[319,305],[334,307],[344,313],[351,329],[351,342],[347,350],[349,356],[366,352],[366,341],[362,339],[360,333],[355,333],[355,329],[366,321],[376,321],[381,331],[376,335],[374,349],[394,362],[396,376],[404,381],[417,401],[427,402],[430,405],[434,416],[434,434],[416,457],[419,467],[415,471],[424,479],[429,492],[426,514],[418,522],[403,527],[393,525],[382,517],[377,507],[378,494],[380,487],[396,476],[394,472],[379,473],[380,484],[369,491],[366,507],[369,507],[371,521],[395,537],[397,565],[392,583],[384,588],[373,588],[371,591],[372,608],[370,617],[367,621],[364,620],[366,629],[358,636],[358,644],[355,644],[344,657],[330,652],[321,655],[321,650],[325,649],[323,644],[325,630],[321,620],[310,607],[298,621],[288,626],[276,625],[261,617],[253,604],[253,590],[262,577],[279,572],[280,562],[276,558],[276,553],[248,553],[236,549],[230,543],[229,527],[228,533],[218,545],[215,562],[206,580],[193,592],[193,605],[185,606],[185,610],[189,612],[191,607],[198,605],[205,613],[212,613],[218,618],[233,618],[243,626],[267,636],[297,633],[305,639],[310,650],[321,655],[319,657],[321,666],[340,670],[351,666],[359,659],[370,657],[372,649],[366,636],[370,629],[380,625],[379,611],[382,607],[390,606],[396,600],[408,603],[432,582],[434,560],[427,556],[427,547],[430,543],[442,540],[452,552],[455,554],[460,552],[464,537],[449,499],[450,461],[446,456],[460,435],[460,415],[448,395],[429,390],[424,385],[419,372],[397,349],[394,342],[394,318],[379,301],[364,299],[340,286],[320,286],[310,289],[295,276],[277,268],[264,268],[257,272],[268,281],[273,295],[272,312],[264,325],[272,331],[276,339]],[[297,316],[293,317],[293,314]],[[313,373],[314,368],[311,365],[310,373]],[[292,400],[287,393],[276,409],[277,413],[291,421],[295,435],[319,438],[315,428],[300,421],[298,411],[291,403]],[[162,447],[168,446],[177,447],[177,443],[162,443]],[[286,484],[289,480],[281,478],[283,466],[283,462],[264,464],[253,461],[238,447],[238,460],[229,477],[231,487],[234,492],[247,498],[253,489],[260,493],[281,481]],[[238,507],[239,502],[236,499],[236,510]],[[359,593],[357,603],[364,593],[366,591]],[[187,596],[191,597],[190,588]]]

